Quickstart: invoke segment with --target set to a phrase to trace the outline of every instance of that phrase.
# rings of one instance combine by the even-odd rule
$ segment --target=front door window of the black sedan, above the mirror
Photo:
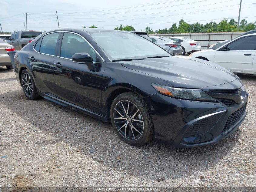
[[[96,61],[97,53],[81,36],[65,32],[61,43],[61,57],[71,59],[75,53],[88,53],[93,62]]]

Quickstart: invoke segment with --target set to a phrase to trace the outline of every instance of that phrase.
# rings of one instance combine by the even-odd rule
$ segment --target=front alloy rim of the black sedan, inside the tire
[[[128,100],[119,101],[114,108],[114,122],[119,133],[128,140],[138,140],[144,130],[144,121],[138,107]]]

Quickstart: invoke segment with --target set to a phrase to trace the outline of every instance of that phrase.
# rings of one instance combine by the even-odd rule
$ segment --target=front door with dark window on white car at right
[[[220,48],[214,62],[233,72],[252,72],[255,55],[256,35],[241,37],[227,45],[227,50]]]

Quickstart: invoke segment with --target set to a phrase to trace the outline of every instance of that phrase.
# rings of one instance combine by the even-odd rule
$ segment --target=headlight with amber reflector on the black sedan
[[[202,91],[201,89],[182,89],[182,88],[174,88],[170,86],[163,86],[152,84],[152,86],[161,94],[175,97],[178,99],[191,99],[191,100],[199,100],[199,101],[211,101],[216,102],[211,96]]]

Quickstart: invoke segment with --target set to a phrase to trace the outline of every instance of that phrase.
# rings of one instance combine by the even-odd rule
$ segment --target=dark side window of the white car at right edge
[[[227,50],[255,50],[256,49],[256,36],[243,37],[232,43],[227,47]]]

